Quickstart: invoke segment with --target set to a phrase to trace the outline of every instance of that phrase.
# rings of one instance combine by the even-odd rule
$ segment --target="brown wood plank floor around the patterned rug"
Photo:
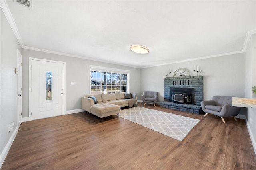
[[[137,106],[143,107],[143,103]],[[200,119],[177,141],[115,115],[86,112],[24,122],[1,170],[256,170],[246,123],[146,104],[146,108]]]

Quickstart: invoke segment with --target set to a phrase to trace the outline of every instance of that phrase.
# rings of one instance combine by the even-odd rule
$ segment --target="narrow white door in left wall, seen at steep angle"
[[[22,122],[22,55],[20,51],[17,49],[17,112],[18,112],[18,127]]]

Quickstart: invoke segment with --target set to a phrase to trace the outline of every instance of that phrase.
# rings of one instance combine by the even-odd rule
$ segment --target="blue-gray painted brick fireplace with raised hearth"
[[[174,102],[172,98],[172,92],[170,89],[193,89],[193,94],[189,100],[193,100],[190,104],[185,102]],[[185,95],[182,92],[182,95]],[[180,97],[180,96],[179,96]],[[185,97],[186,98],[186,97]],[[164,78],[164,102],[160,102],[161,107],[176,109],[180,111],[186,111],[190,113],[200,114],[202,112],[200,102],[203,99],[203,76],[178,76],[178,77],[166,77]]]

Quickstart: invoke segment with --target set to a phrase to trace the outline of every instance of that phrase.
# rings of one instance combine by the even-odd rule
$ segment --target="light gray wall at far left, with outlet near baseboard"
[[[17,51],[20,45],[6,20],[2,9],[0,11],[0,153],[8,143],[12,133],[9,123],[14,121],[16,129],[17,113]],[[1,155],[2,156],[2,155]],[[2,161],[2,160],[1,160]]]

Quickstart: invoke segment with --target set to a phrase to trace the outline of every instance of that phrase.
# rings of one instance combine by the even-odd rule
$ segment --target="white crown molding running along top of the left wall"
[[[1,9],[2,9],[8,23],[10,24],[10,26],[12,28],[12,31],[14,32],[16,39],[18,40],[18,43],[20,44],[21,47],[24,47],[20,33],[19,33],[18,28],[14,22],[14,19],[12,18],[12,14],[10,12],[10,9],[9,9],[7,3],[6,3],[6,0],[0,0],[0,6],[1,6]]]

